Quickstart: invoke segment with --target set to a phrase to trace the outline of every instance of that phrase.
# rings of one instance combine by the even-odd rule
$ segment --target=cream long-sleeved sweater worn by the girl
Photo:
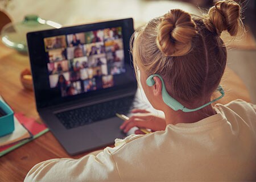
[[[196,123],[115,139],[97,155],[36,164],[25,181],[255,181],[256,105],[215,109]]]

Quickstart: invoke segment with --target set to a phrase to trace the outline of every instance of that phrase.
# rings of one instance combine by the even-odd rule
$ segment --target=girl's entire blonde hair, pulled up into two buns
[[[131,38],[134,68],[161,75],[168,93],[181,103],[200,105],[216,90],[226,67],[221,32],[236,36],[243,30],[240,11],[228,0],[218,1],[204,16],[175,9],[150,20]]]

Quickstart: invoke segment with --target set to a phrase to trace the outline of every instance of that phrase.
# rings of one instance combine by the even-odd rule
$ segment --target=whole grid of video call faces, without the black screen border
[[[114,86],[125,73],[122,28],[80,32],[44,39],[50,88],[61,97]]]

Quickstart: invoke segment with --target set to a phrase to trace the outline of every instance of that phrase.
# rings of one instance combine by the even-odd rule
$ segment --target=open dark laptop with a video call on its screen
[[[36,109],[69,155],[126,137],[115,113],[140,104],[133,32],[129,18],[27,34]]]

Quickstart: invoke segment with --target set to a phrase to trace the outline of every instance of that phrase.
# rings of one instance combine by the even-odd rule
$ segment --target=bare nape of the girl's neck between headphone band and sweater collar
[[[189,113],[185,113],[181,110],[175,111],[172,110],[170,107],[166,107],[166,109],[164,110],[166,125],[176,125],[177,123],[194,123],[214,114],[216,114],[216,111],[211,105],[204,107],[204,109]]]

